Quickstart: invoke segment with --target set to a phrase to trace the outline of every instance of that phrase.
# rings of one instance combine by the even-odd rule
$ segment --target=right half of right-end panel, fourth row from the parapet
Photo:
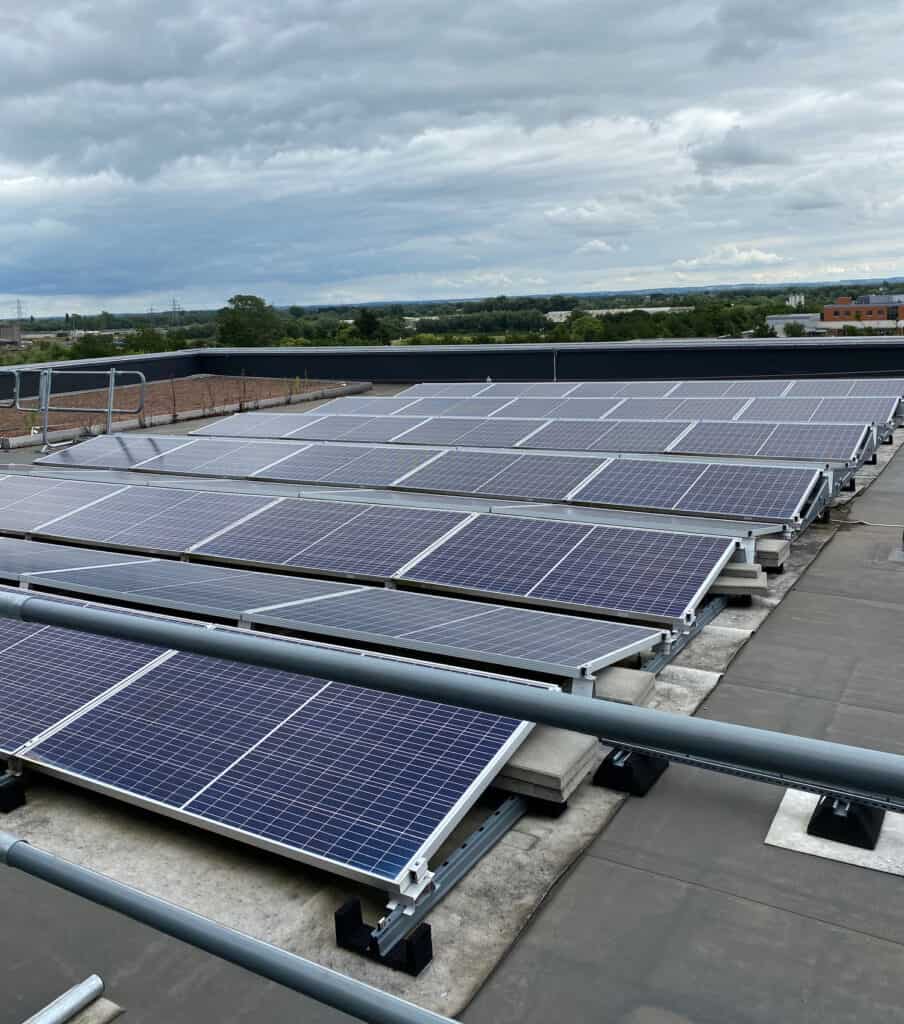
[[[799,513],[818,476],[812,469],[711,465],[676,508],[787,522]]]

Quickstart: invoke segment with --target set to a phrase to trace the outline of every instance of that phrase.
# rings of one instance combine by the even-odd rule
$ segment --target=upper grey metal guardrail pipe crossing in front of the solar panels
[[[0,616],[544,723],[670,761],[904,811],[904,757],[897,754],[536,690],[491,678],[477,682],[438,666],[389,662],[241,630],[82,607],[15,591],[0,592]]]

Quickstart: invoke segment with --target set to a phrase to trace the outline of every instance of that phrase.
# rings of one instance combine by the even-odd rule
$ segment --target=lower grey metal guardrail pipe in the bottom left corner
[[[422,1010],[362,981],[70,863],[6,833],[0,833],[0,864],[84,896],[369,1024],[453,1024],[448,1017]]]

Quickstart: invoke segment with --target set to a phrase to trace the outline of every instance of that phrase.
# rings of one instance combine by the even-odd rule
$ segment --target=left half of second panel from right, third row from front
[[[283,501],[196,550],[212,557],[283,565],[369,507],[352,502]]]

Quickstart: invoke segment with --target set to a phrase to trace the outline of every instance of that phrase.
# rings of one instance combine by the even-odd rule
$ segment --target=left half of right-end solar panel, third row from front
[[[527,594],[592,529],[551,519],[481,516],[422,558],[404,579]]]

